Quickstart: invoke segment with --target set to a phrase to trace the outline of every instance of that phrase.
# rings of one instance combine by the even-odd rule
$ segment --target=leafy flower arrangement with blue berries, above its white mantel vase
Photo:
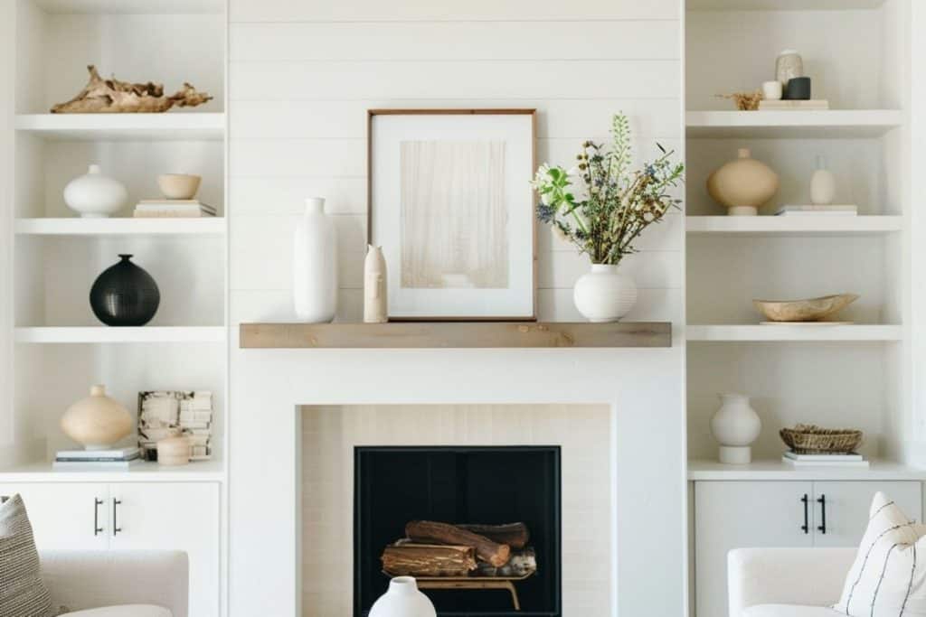
[[[578,163],[568,171],[542,165],[532,181],[540,194],[537,217],[588,254],[593,264],[618,265],[633,253],[645,228],[662,220],[681,200],[668,191],[683,181],[682,163],[672,163],[673,152],[657,143],[662,155],[643,169],[632,171],[630,121],[623,114],[611,123],[609,148],[582,143]],[[582,182],[573,192],[573,179]]]

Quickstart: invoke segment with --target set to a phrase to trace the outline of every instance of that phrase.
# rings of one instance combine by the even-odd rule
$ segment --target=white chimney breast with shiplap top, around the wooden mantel
[[[680,148],[680,6],[231,0],[232,332],[241,322],[294,318],[291,237],[309,195],[324,195],[336,216],[338,318],[359,318],[371,107],[534,107],[538,158],[564,165],[582,140],[606,138],[619,110],[632,117],[644,156],[656,140]],[[627,261],[641,288],[632,317],[671,320],[672,350],[256,352],[234,349],[233,340],[232,616],[269,606],[290,614],[301,600],[299,568],[290,565],[306,532],[292,514],[302,503],[292,489],[301,447],[294,405],[569,401],[618,411],[610,454],[619,475],[617,613],[682,614],[683,234],[682,216],[671,216]],[[571,288],[587,265],[547,230],[539,235],[540,317],[578,318]],[[386,365],[393,377],[383,381]],[[536,377],[554,374],[558,382]],[[644,443],[665,453],[637,469],[648,458]],[[658,557],[641,568],[644,551]]]

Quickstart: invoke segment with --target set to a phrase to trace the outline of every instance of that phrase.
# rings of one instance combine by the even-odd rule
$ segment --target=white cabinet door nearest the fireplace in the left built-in
[[[219,485],[109,485],[112,549],[179,549],[190,557],[190,615],[219,616]]]

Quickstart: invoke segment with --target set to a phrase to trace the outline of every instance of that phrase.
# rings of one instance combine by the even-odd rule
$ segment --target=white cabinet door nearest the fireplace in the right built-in
[[[727,553],[732,549],[812,545],[812,496],[810,482],[695,483],[697,617],[727,615]]]

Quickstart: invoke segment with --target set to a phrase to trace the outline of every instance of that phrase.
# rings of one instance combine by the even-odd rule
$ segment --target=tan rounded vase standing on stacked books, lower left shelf
[[[87,450],[106,450],[131,432],[131,414],[106,396],[106,386],[94,386],[61,416],[61,430]]]

